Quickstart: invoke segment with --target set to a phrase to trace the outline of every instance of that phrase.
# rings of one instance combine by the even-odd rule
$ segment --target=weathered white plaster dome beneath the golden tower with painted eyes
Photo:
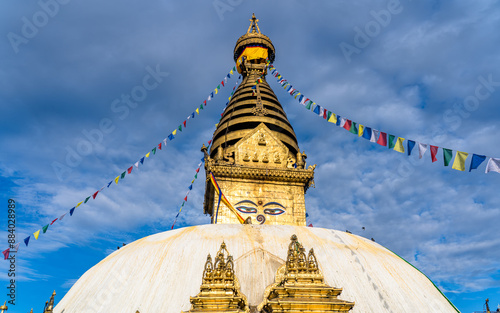
[[[345,232],[285,225],[204,225],[142,238],[88,270],[56,313],[180,313],[199,292],[207,254],[222,241],[249,304],[262,301],[292,234],[314,248],[325,282],[342,287],[352,312],[456,312],[419,271],[381,245]]]

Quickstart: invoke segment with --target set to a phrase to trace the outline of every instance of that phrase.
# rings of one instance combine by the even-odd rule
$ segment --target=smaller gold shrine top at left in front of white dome
[[[224,242],[213,262],[210,254],[207,256],[200,293],[190,297],[190,302],[191,310],[187,312],[250,312],[248,301],[241,293],[234,274],[233,257],[229,255]]]

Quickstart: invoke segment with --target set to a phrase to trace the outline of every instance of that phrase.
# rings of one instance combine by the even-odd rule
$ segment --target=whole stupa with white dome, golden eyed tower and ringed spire
[[[234,49],[242,83],[211,148],[202,148],[203,211],[212,223],[122,247],[82,275],[53,312],[458,311],[424,274],[383,246],[306,227],[304,195],[315,166],[306,166],[266,82],[274,58],[273,43],[253,16]]]

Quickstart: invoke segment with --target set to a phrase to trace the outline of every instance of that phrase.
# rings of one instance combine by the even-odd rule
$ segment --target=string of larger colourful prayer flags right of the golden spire
[[[397,137],[395,135],[388,134],[383,131],[378,131],[366,125],[356,123],[346,117],[341,117],[340,115],[329,111],[327,108],[317,105],[311,99],[307,98],[304,94],[302,94],[297,88],[293,87],[290,84],[290,82],[288,82],[285,78],[283,78],[282,75],[276,69],[276,67],[274,67],[274,65],[272,65],[269,60],[267,60],[267,66],[271,71],[272,76],[276,77],[276,82],[280,84],[287,93],[289,93],[295,99],[297,99],[298,103],[303,105],[305,109],[312,111],[314,114],[320,117],[323,117],[323,119],[327,120],[330,123],[333,123],[339,127],[346,129],[352,134],[358,135],[358,137],[363,137],[364,139],[370,140],[370,142],[377,143],[384,147],[388,147],[389,149],[393,149],[394,151],[405,153],[404,138]],[[406,152],[408,156],[412,154],[413,148],[417,146],[418,155],[419,158],[421,159],[430,146],[431,160],[433,163],[437,161],[437,153],[439,150],[438,146],[416,142],[410,139],[407,139],[406,141],[407,141]],[[444,166],[449,166],[453,158],[453,150],[446,148],[442,149],[443,149]],[[467,160],[468,155],[469,153],[467,152],[456,151],[452,168],[459,171],[465,171],[465,161]],[[477,169],[486,160],[486,158],[487,157],[484,155],[472,154],[472,160],[470,163],[469,172],[472,171],[473,169]],[[485,172],[500,173],[499,160],[500,158],[490,157],[488,159]]]

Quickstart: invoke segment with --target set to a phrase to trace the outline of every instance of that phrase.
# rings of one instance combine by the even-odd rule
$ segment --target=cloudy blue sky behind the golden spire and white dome
[[[1,6],[5,247],[7,199],[17,202],[22,240],[138,161],[233,67],[234,44],[252,12],[276,47],[274,65],[321,106],[396,136],[500,157],[498,1]],[[122,95],[136,92],[157,69],[157,84],[125,106]],[[320,120],[268,81],[307,161],[317,164],[316,188],[306,195],[315,227],[375,238],[426,273],[462,312],[480,310],[486,298],[492,307],[500,303],[497,173],[485,174],[485,163],[472,173],[445,168],[441,149],[431,163],[429,152],[419,160],[372,144]],[[474,102],[478,88],[481,99]],[[58,301],[118,245],[170,229],[229,92],[225,88],[143,167],[22,247],[9,312],[42,310],[54,289]],[[195,182],[178,227],[209,223],[203,179]],[[0,263],[3,285],[7,266]]]

